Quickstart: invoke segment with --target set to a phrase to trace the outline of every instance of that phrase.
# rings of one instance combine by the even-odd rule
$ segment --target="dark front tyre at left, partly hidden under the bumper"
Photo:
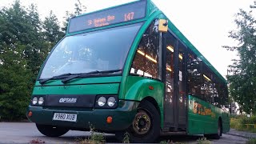
[[[40,125],[36,124],[40,133],[48,137],[59,137],[63,134],[66,134],[69,130],[63,127],[49,126],[49,125]]]

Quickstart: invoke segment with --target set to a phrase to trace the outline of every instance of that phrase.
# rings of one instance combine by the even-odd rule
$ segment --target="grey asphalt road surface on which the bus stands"
[[[38,142],[47,143],[75,143],[79,139],[86,138],[90,135],[89,132],[74,131],[70,130],[67,134],[64,134],[59,138],[49,138],[42,135],[34,125],[30,122],[0,122],[0,143],[30,143],[33,140]],[[162,140],[172,140],[173,142],[184,142],[184,143],[197,143],[198,138],[202,136],[171,136],[162,137]],[[219,140],[212,140],[212,143],[246,143],[246,138],[241,138],[229,134],[223,134]],[[115,143],[117,142],[114,138],[114,134],[106,134],[106,142]]]

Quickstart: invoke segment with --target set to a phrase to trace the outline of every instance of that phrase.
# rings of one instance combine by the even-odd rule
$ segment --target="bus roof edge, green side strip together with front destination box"
[[[150,16],[156,11],[160,11],[164,14],[162,10],[159,10],[151,0],[138,0],[87,14],[81,14],[77,17],[70,18],[66,35],[89,32],[92,30],[101,30],[108,27],[120,26],[124,23],[142,22],[150,18]],[[164,15],[166,17],[166,14]],[[168,21],[168,27],[180,39],[180,41],[197,54],[198,57],[202,59],[202,62],[205,62],[210,70],[218,76],[218,78],[221,78],[223,82],[226,82],[226,79],[222,77],[222,74],[219,74],[218,70],[216,70],[214,66],[212,66],[210,62],[208,62],[208,60],[195,48],[195,46],[182,34],[182,32],[174,26],[174,23],[170,21],[170,18],[168,18]]]

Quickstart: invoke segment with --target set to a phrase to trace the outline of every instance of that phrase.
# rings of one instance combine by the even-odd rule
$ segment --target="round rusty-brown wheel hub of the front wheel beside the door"
[[[137,134],[146,134],[150,130],[150,116],[145,111],[139,111],[134,118],[133,128]]]

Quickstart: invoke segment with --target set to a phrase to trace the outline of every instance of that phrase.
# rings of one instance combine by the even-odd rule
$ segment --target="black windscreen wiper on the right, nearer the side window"
[[[82,77],[85,77],[85,76],[90,75],[90,74],[111,74],[111,73],[115,73],[115,72],[118,72],[118,71],[122,71],[122,70],[105,70],[105,71],[95,70],[95,71],[91,71],[89,73],[71,75],[68,78],[62,79],[62,83],[67,83],[67,82],[69,82],[70,80],[72,80],[74,78],[82,78]]]

